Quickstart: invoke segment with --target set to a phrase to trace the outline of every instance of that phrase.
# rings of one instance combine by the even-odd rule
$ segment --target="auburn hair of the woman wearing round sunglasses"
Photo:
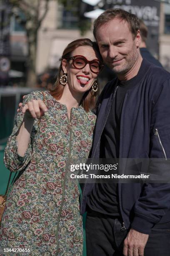
[[[69,59],[71,57],[72,51],[74,51],[79,46],[91,46],[94,49],[94,51],[97,53],[99,60],[102,62],[102,57],[100,55],[100,51],[98,49],[96,42],[92,42],[88,38],[81,38],[81,39],[72,41],[70,44],[68,44],[64,49],[62,57],[60,59],[61,64],[57,74],[56,82],[53,85],[53,87],[50,89],[51,95],[55,97],[56,100],[60,100],[64,90],[64,86],[60,84],[60,77],[64,74],[62,70],[62,59]],[[90,109],[95,107],[95,101],[98,94],[99,94],[99,88],[97,92],[93,92],[92,87],[90,87],[90,89],[87,92],[85,92],[80,102],[80,105],[82,105],[85,111],[89,111]]]

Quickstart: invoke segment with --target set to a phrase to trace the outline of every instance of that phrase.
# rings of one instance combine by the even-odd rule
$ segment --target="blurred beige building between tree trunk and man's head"
[[[57,1],[50,1],[49,11],[38,33],[37,73],[42,73],[47,68],[59,67],[62,51],[70,41],[80,37],[93,38],[91,31],[80,36],[76,11],[77,9],[65,10]]]

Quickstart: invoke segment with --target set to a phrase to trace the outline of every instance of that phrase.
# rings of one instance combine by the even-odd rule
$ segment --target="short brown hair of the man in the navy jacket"
[[[110,8],[100,14],[100,16],[94,21],[93,35],[95,39],[97,29],[100,28],[100,26],[108,23],[110,20],[113,20],[114,18],[127,21],[130,27],[130,31],[135,38],[140,26],[138,17],[135,14],[128,13],[127,11],[119,8]]]

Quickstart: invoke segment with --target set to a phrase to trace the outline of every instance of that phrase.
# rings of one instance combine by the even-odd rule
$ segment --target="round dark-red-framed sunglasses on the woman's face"
[[[72,64],[75,67],[75,69],[83,69],[88,63],[90,66],[90,70],[93,73],[98,74],[99,71],[103,67],[103,64],[101,64],[98,59],[93,59],[92,61],[89,61],[85,58],[85,56],[75,55],[67,60],[71,60],[71,59],[72,59]]]

